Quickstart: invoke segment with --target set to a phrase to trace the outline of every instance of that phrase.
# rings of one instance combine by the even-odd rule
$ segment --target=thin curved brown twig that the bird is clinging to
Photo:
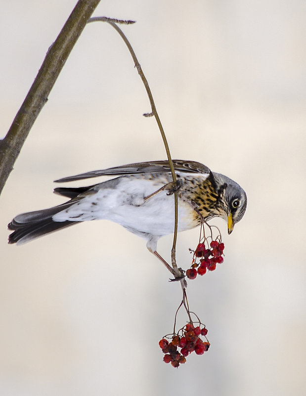
[[[87,22],[90,23],[90,22],[95,22],[95,21],[107,22],[110,25],[112,25],[112,27],[120,34],[120,36],[122,37],[123,41],[127,45],[128,49],[129,49],[129,51],[131,53],[131,57],[133,58],[135,68],[137,69],[137,72],[138,72],[138,74],[139,74],[139,76],[140,76],[140,78],[141,78],[141,80],[143,82],[143,85],[144,85],[144,87],[145,87],[145,89],[147,91],[147,95],[149,97],[149,101],[150,101],[150,105],[151,105],[151,109],[152,109],[151,113],[145,113],[144,116],[145,117],[150,117],[150,116],[154,115],[154,117],[156,119],[158,128],[159,128],[159,130],[161,132],[161,135],[162,135],[164,146],[165,146],[165,149],[166,149],[167,158],[168,158],[168,161],[169,161],[169,166],[170,166],[173,182],[176,183],[175,169],[174,169],[174,165],[173,165],[173,162],[172,162],[172,158],[171,158],[171,154],[170,154],[169,145],[168,145],[168,142],[167,142],[167,139],[166,139],[166,135],[165,135],[162,123],[160,121],[159,115],[158,115],[157,110],[156,110],[156,106],[155,106],[155,103],[154,103],[154,100],[153,100],[151,89],[149,87],[147,79],[145,78],[145,76],[143,74],[143,71],[142,71],[141,66],[140,66],[140,64],[138,62],[138,59],[136,57],[135,52],[134,52],[129,40],[127,39],[127,37],[123,33],[123,31],[116,25],[116,23],[113,22],[114,21],[113,19],[101,16],[101,17],[90,18],[90,19],[88,19]],[[175,259],[175,246],[176,246],[176,239],[177,239],[177,218],[178,218],[177,191],[175,191],[175,193],[174,193],[174,200],[175,200],[175,229],[174,229],[173,245],[172,245],[172,250],[171,250],[171,264],[172,264],[172,266],[174,268],[177,268],[176,259]]]

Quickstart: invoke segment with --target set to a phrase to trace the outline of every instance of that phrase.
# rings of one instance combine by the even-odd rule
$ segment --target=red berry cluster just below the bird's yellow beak
[[[193,259],[191,268],[187,269],[186,276],[189,279],[196,278],[197,274],[204,275],[207,270],[214,271],[217,264],[223,263],[224,243],[219,241],[212,241],[209,246],[204,243],[199,243],[193,252]],[[210,257],[211,256],[211,257]],[[200,261],[197,263],[197,259]]]

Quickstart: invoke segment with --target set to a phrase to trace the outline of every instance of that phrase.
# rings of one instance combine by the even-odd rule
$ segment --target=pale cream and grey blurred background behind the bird
[[[75,3],[1,5],[0,136]],[[97,221],[7,245],[15,215],[64,202],[52,180],[166,159],[125,44],[111,26],[88,25],[0,197],[0,394],[305,395],[305,2],[105,0],[93,15],[137,21],[123,30],[173,158],[236,180],[248,209],[230,236],[211,221],[224,264],[188,287],[211,348],[178,369],[158,341],[180,286],[144,240]],[[178,237],[185,269],[198,235]],[[161,255],[171,246],[161,239]]]

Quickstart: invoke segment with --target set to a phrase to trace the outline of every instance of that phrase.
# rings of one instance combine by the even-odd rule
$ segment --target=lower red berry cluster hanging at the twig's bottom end
[[[201,329],[200,326],[194,327],[192,323],[187,323],[180,332],[182,335],[175,334],[171,342],[166,338],[159,342],[160,348],[165,353],[164,362],[171,363],[173,367],[185,363],[189,353],[194,351],[197,355],[202,355],[210,347],[208,341],[203,342],[200,338],[201,335],[206,338],[207,329],[205,327]],[[180,352],[177,351],[178,348]]]

